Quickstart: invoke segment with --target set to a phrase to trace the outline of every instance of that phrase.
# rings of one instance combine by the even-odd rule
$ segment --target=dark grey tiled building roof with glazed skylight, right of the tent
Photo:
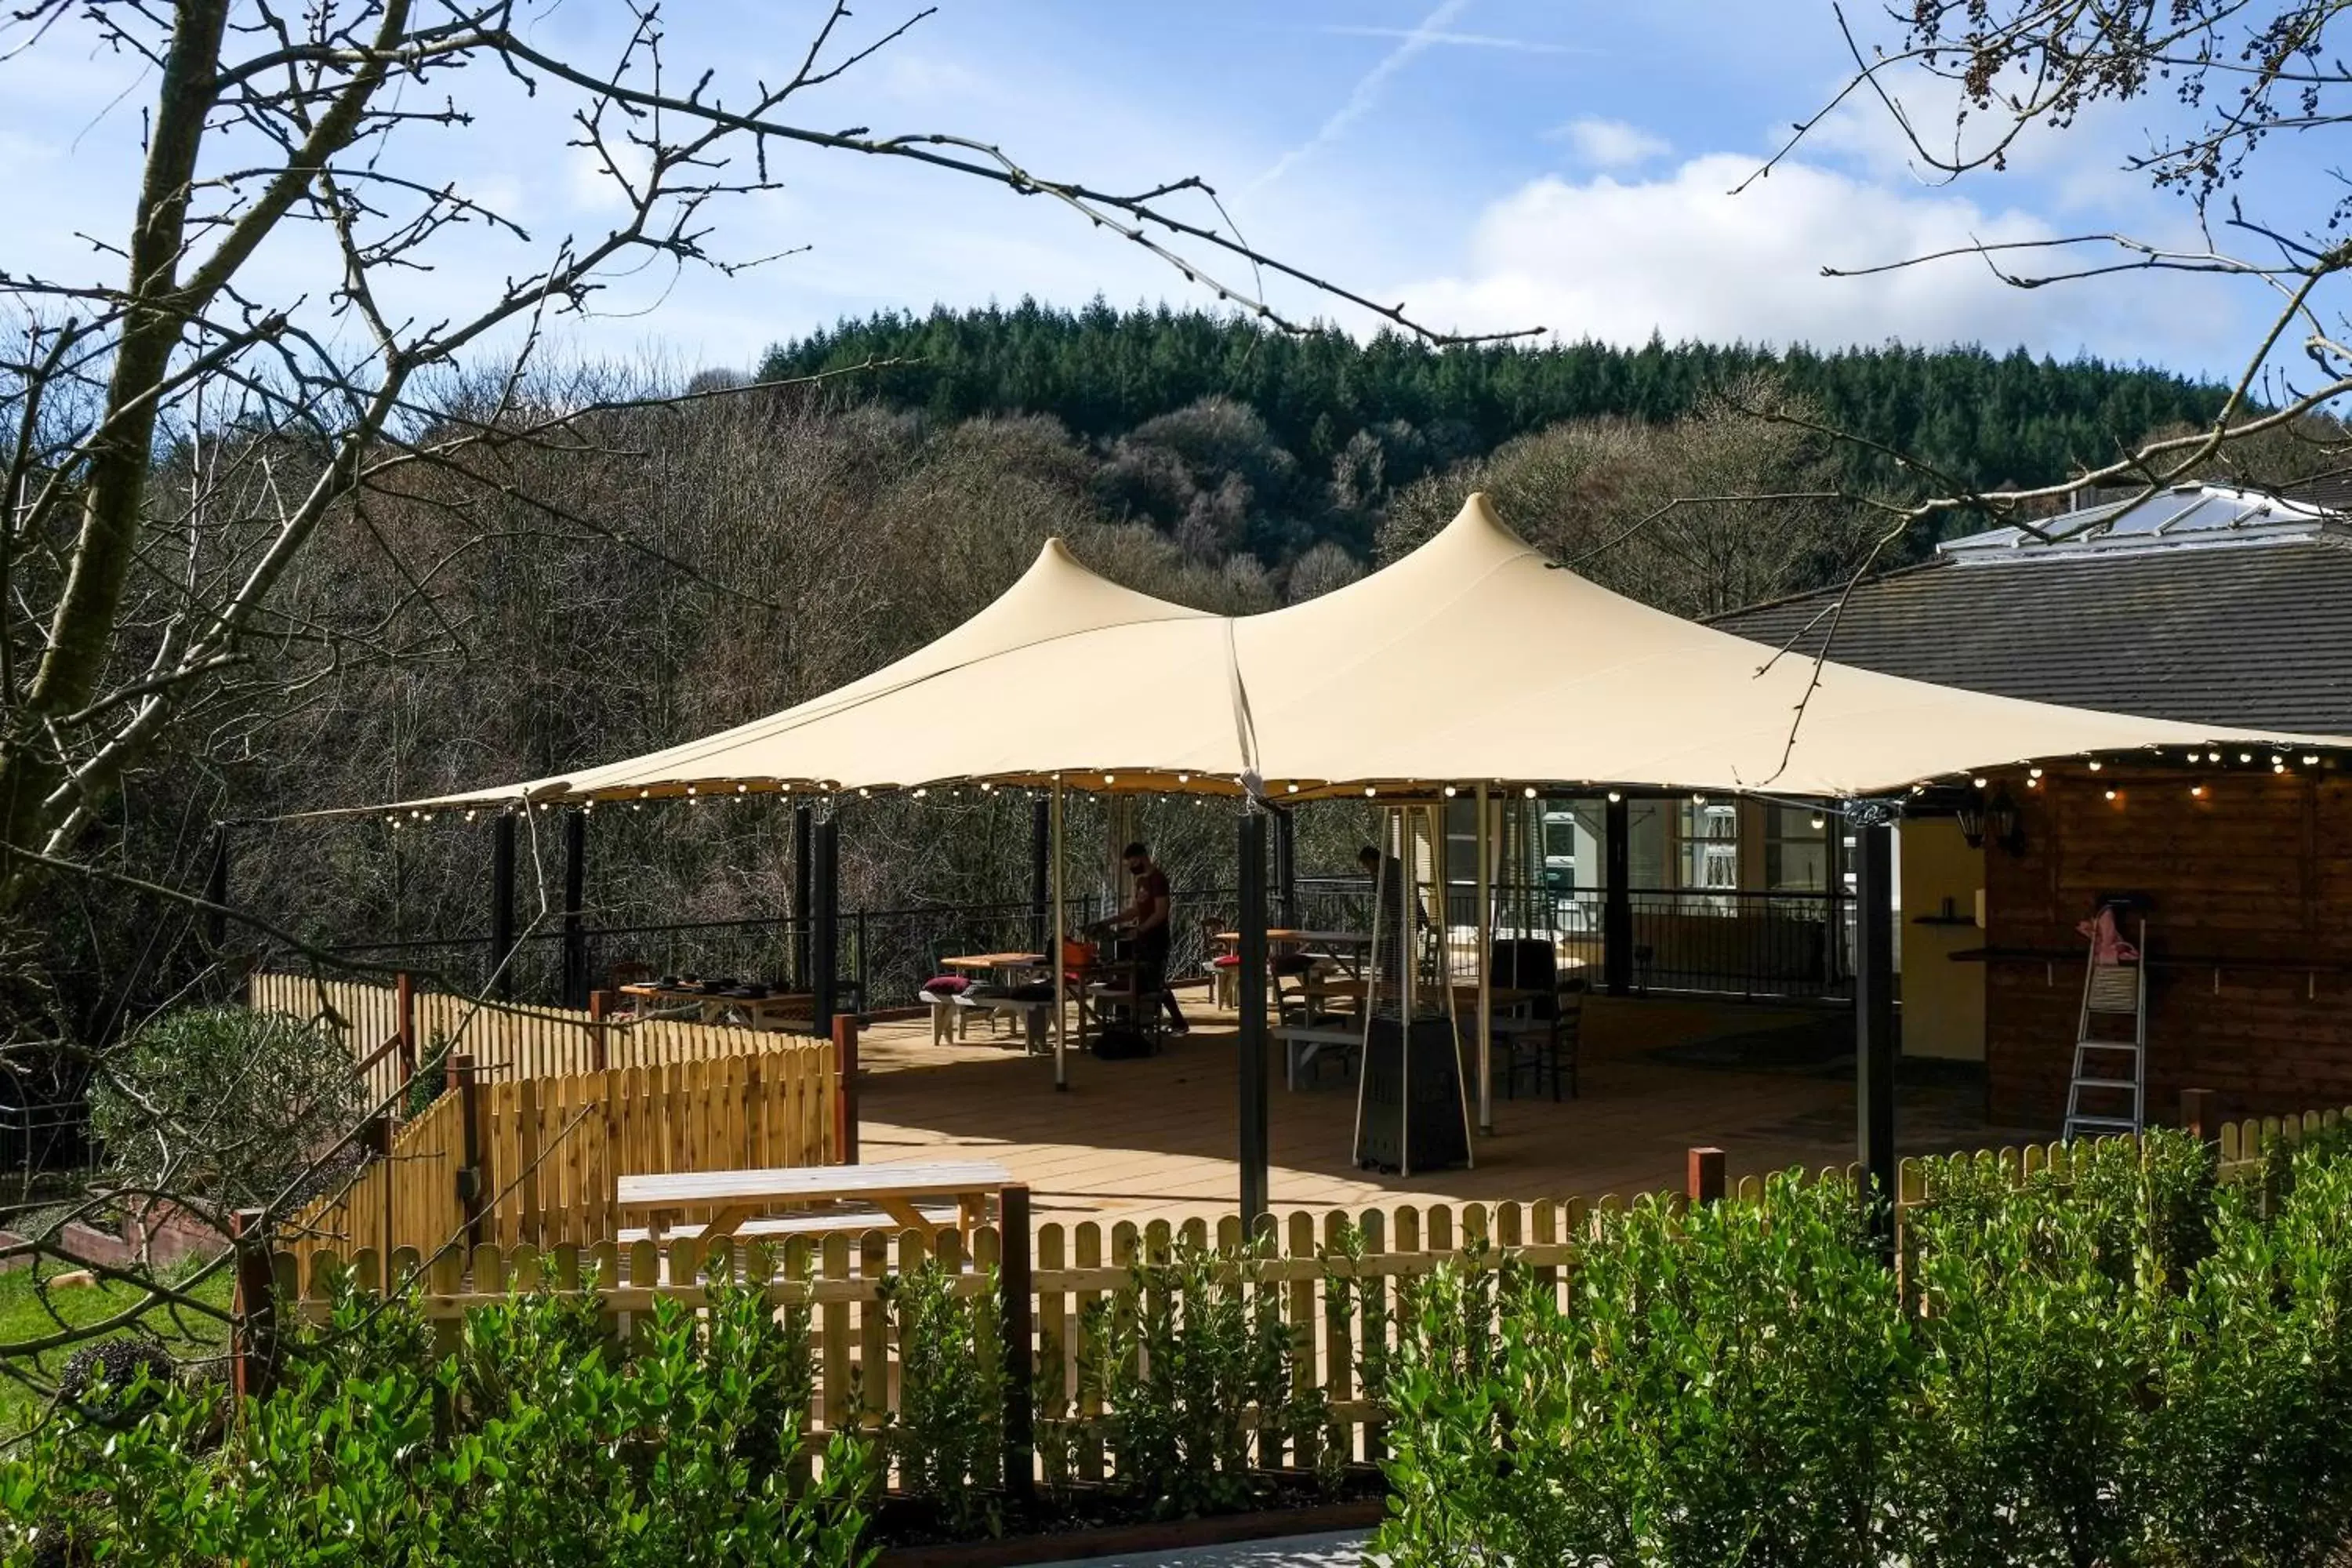
[[[2352,527],[2310,501],[2180,487],[1938,545],[1726,632],[2072,708],[2352,731]],[[1835,637],[1832,637],[1835,618]]]

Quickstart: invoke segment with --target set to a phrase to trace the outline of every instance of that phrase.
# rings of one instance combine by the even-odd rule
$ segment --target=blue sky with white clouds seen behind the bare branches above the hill
[[[783,71],[816,14],[807,0],[673,0],[673,73],[715,63],[724,85]],[[619,16],[616,0],[567,0],[539,7],[534,28],[600,59]],[[851,28],[870,38],[901,16],[873,0]],[[2244,289],[2136,277],[2018,292],[1971,261],[1820,277],[1825,263],[1969,237],[2187,233],[2178,200],[2117,169],[2161,106],[2093,115],[2013,172],[1959,186],[1907,167],[1877,113],[1839,115],[1773,179],[1729,195],[1828,99],[1842,66],[1837,24],[1813,0],[943,0],[802,113],[823,127],[974,134],[1040,174],[1105,188],[1202,174],[1261,247],[1444,327],[1971,339],[2234,369],[2260,315]],[[75,233],[120,233],[151,87],[71,31],[0,61],[0,160],[16,186],[0,268],[106,270]],[[553,108],[492,94],[480,125],[419,134],[407,158],[510,209],[543,249],[609,212]],[[593,320],[564,329],[564,348],[748,364],[779,336],[884,306],[1200,299],[1042,200],[835,153],[786,155],[776,174],[783,190],[717,214],[720,247],[804,254],[734,280],[621,277]],[[412,306],[477,294],[515,259],[461,242],[414,282]],[[318,299],[332,284],[322,261],[289,242],[266,277]],[[1301,289],[1272,299],[1334,313]]]

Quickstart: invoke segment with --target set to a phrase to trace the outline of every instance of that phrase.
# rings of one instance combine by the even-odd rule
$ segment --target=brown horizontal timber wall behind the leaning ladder
[[[2147,1112],[2352,1098],[2352,778],[2251,764],[2004,773],[2023,844],[1985,851],[1985,1072],[2004,1126],[2056,1128],[2082,1006],[2077,924],[2147,896]]]

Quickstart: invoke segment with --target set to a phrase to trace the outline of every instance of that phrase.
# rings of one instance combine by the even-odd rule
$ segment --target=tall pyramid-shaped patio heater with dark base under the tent
[[[1383,811],[1371,959],[1364,964],[1355,1164],[1397,1175],[1470,1164],[1444,837],[1444,804]]]

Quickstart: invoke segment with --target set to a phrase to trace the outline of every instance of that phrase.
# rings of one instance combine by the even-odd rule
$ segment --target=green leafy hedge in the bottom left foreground
[[[59,1410],[0,1455],[0,1563],[793,1566],[870,1552],[870,1448],[795,1483],[807,1314],[713,1281],[661,1300],[630,1354],[553,1295],[466,1319],[435,1356],[407,1307],[350,1298],[287,1380],[134,1389]],[[788,1448],[790,1446],[790,1448]]]

